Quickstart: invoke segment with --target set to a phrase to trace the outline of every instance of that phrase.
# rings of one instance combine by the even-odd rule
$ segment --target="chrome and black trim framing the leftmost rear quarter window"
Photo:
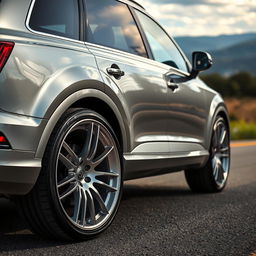
[[[26,28],[34,33],[34,34],[38,34],[38,35],[42,35],[42,36],[47,36],[47,37],[52,37],[52,38],[57,38],[57,39],[62,39],[62,40],[66,40],[66,41],[70,41],[70,42],[74,42],[74,43],[79,43],[79,44],[84,44],[84,42],[81,40],[81,30],[83,29],[83,23],[81,24],[81,19],[83,18],[84,14],[83,14],[83,4],[81,3],[81,0],[77,0],[77,3],[78,3],[78,12],[79,12],[79,40],[77,39],[72,39],[72,38],[68,38],[68,37],[65,37],[65,36],[58,36],[58,35],[54,35],[54,34],[50,34],[50,33],[46,33],[46,32],[41,32],[41,31],[37,31],[37,30],[34,30],[32,29],[30,26],[29,26],[29,23],[30,23],[30,18],[31,18],[31,15],[32,15],[32,12],[33,12],[33,9],[34,9],[34,6],[35,6],[35,2],[36,0],[32,0],[30,6],[29,6],[29,10],[28,10],[28,14],[27,14],[27,17],[26,17],[26,22],[25,22],[25,26]]]

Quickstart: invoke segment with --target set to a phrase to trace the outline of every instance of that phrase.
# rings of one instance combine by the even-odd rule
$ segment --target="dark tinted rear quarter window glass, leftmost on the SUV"
[[[36,31],[78,40],[77,0],[36,0],[29,26]]]

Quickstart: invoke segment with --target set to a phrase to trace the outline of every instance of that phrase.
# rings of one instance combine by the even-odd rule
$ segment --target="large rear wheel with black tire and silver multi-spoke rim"
[[[49,139],[34,188],[16,198],[31,230],[58,240],[86,240],[105,231],[121,199],[121,159],[116,136],[102,116],[68,111]]]

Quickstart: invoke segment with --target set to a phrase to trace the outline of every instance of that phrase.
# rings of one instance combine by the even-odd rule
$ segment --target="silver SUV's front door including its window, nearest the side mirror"
[[[168,86],[167,136],[172,142],[170,151],[191,151],[191,143],[202,144],[204,139],[207,118],[204,89],[200,87],[199,79],[173,82],[175,78],[189,75],[187,62],[175,43],[155,21],[138,10],[135,13],[153,58],[163,68],[163,79]],[[194,147],[195,150],[196,148]]]

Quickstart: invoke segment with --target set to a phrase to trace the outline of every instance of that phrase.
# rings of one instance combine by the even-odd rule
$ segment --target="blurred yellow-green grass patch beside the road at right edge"
[[[256,124],[253,122],[231,121],[230,130],[232,140],[256,139]]]

